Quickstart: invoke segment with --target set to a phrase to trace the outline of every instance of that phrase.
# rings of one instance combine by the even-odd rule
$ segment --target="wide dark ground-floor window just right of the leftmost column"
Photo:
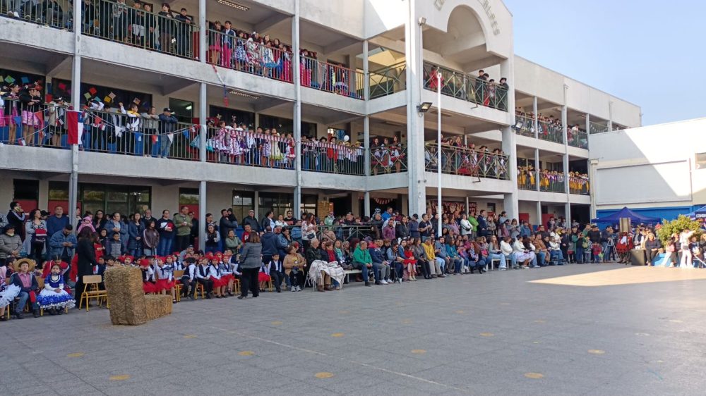
[[[81,184],[79,191],[83,211],[102,210],[106,214],[119,212],[126,216],[136,211],[145,213],[152,197],[151,188],[143,186]]]

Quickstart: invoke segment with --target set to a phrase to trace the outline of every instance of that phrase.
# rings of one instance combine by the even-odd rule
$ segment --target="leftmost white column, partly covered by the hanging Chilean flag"
[[[81,8],[73,7],[73,20],[82,20]],[[78,110],[81,108],[81,54],[80,37],[83,24],[73,24],[73,65],[71,67],[71,104]],[[68,219],[73,224],[76,221],[76,204],[78,204],[78,144],[71,144],[71,175],[68,179]],[[78,229],[73,230],[76,233]]]

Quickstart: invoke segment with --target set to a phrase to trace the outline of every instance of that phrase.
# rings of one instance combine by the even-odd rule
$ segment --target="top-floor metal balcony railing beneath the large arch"
[[[441,93],[493,109],[508,111],[508,89],[493,82],[474,78],[462,71],[424,62],[424,88],[436,92],[441,73]]]

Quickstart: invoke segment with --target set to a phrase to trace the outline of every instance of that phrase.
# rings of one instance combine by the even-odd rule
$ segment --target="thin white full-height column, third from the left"
[[[294,216],[301,218],[301,76],[299,75],[299,0],[294,0],[292,17],[292,75],[294,77],[294,169],[297,171],[297,187],[294,187]]]

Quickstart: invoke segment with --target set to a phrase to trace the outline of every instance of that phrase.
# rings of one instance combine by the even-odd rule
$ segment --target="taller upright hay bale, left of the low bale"
[[[104,283],[110,303],[110,321],[114,325],[136,326],[147,322],[145,292],[139,268],[109,268],[105,271]]]

